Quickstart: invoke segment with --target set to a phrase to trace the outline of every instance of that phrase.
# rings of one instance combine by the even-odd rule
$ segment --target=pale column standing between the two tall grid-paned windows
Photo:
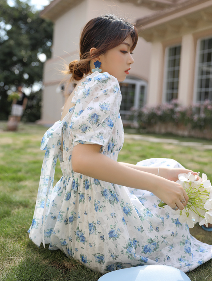
[[[192,34],[186,34],[182,38],[180,56],[178,100],[181,105],[190,105],[193,101],[194,66],[194,39]]]

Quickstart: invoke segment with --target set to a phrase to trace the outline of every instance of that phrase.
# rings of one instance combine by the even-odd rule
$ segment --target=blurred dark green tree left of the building
[[[40,118],[43,62],[51,56],[53,24],[27,1],[13,4],[0,0],[0,119],[8,119],[8,94],[22,83],[29,94],[23,120],[35,121]]]

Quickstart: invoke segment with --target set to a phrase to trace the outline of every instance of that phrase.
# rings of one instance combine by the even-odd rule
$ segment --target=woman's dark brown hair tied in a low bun
[[[71,80],[80,80],[90,71],[89,63],[92,58],[105,54],[108,50],[120,45],[128,36],[132,38],[132,51],[138,40],[135,26],[114,15],[105,15],[90,20],[84,27],[80,37],[80,60],[69,64]],[[90,55],[90,49],[97,50]]]

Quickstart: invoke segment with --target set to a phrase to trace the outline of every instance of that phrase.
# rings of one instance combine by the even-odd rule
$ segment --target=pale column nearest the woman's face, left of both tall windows
[[[152,44],[147,105],[158,105],[162,101],[164,51],[161,42]]]

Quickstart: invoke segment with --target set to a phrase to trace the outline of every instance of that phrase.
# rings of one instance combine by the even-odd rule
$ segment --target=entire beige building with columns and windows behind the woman
[[[61,70],[79,58],[86,22],[107,13],[127,17],[139,30],[135,62],[120,83],[124,120],[131,107],[212,99],[212,0],[53,0],[41,12],[54,22],[54,35],[52,58],[44,66],[40,123],[60,119],[65,101]]]

